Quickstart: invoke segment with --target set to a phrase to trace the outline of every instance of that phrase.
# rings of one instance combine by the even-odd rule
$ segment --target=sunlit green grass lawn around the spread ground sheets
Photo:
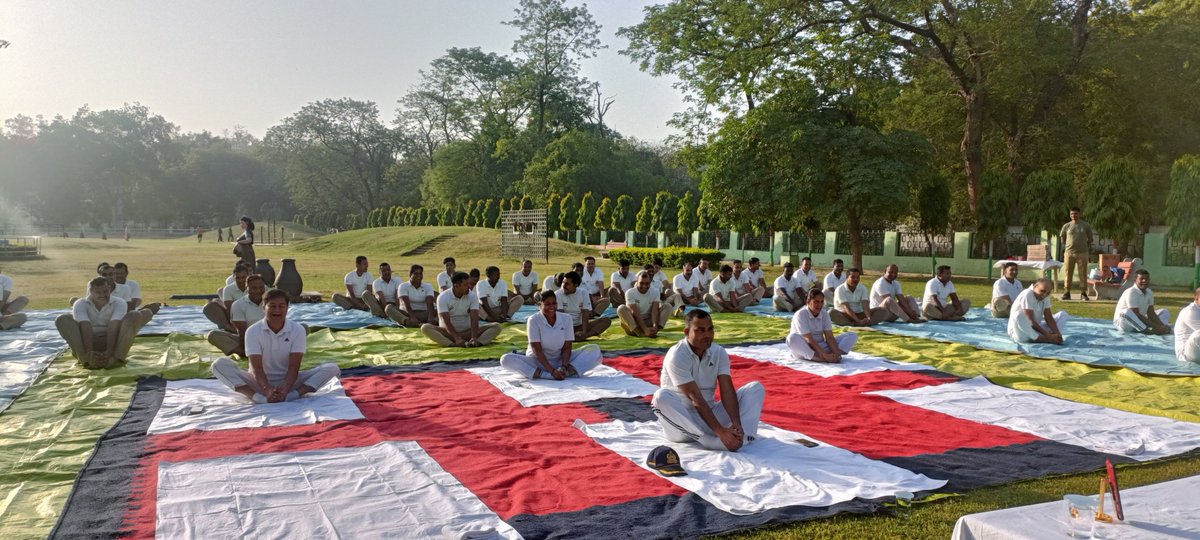
[[[296,227],[300,235],[314,234]],[[456,235],[437,250],[420,257],[401,257],[431,238],[443,234]],[[98,262],[125,262],[131,268],[131,278],[142,283],[145,300],[161,301],[172,294],[210,293],[224,283],[235,258],[229,244],[212,241],[206,234],[203,244],[194,236],[176,240],[142,240],[125,242],[119,239],[44,239],[44,259],[0,262],[0,271],[13,277],[18,294],[31,298],[31,308],[66,307],[70,296],[80,295],[85,282],[94,275]],[[290,238],[290,235],[289,235]],[[432,280],[442,269],[442,258],[454,256],[458,268],[485,268],[498,265],[508,278],[520,268],[520,260],[499,258],[499,234],[490,229],[475,228],[383,228],[316,236],[289,242],[286,246],[257,246],[259,257],[270,258],[278,270],[278,260],[295,258],[306,290],[324,294],[343,290],[342,276],[353,269],[354,257],[365,254],[374,266],[386,260],[397,274],[406,275],[410,264],[422,264],[426,278]],[[550,271],[563,271],[570,263],[582,260],[586,254],[596,254],[593,248],[566,242],[551,241],[548,264],[535,262],[535,269],[545,276]],[[600,259],[606,272],[614,263]],[[781,269],[769,268],[768,278],[774,278]],[[824,275],[826,269],[818,274]],[[869,286],[877,275],[868,275]],[[928,276],[902,276],[905,292],[919,295]],[[991,283],[980,277],[955,280],[964,298],[976,306],[988,302]],[[1157,290],[1162,307],[1176,312],[1190,301],[1186,290]],[[1056,295],[1057,296],[1057,295]],[[173,302],[174,304],[174,302]],[[188,304],[188,302],[179,302]],[[196,302],[192,302],[196,304]],[[1055,301],[1056,308],[1066,308],[1075,316],[1106,319],[1112,314],[1114,302]],[[619,329],[611,331],[619,332]],[[941,346],[938,346],[941,347]],[[936,354],[936,353],[935,353]],[[979,353],[985,354],[985,353]],[[1000,354],[1000,353],[986,353]],[[1014,356],[1016,358],[1016,356]],[[1030,360],[1034,361],[1034,360]],[[1037,360],[1045,361],[1045,360]],[[1103,372],[1116,373],[1116,371]],[[962,373],[960,373],[962,374]],[[1003,383],[1001,383],[1003,384]],[[1152,383],[1150,383],[1152,384]],[[28,397],[28,396],[26,396]],[[1200,457],[1184,457],[1165,462],[1123,468],[1123,484],[1128,487],[1157,482],[1186,475],[1200,474]],[[733,538],[854,538],[854,539],[919,539],[948,538],[959,516],[965,514],[1010,508],[1024,504],[1056,500],[1064,493],[1088,493],[1096,488],[1097,473],[1064,478],[1050,478],[983,488],[937,502],[917,504],[911,509],[888,511],[882,515],[845,515],[797,524],[770,527],[749,533],[737,533]]]

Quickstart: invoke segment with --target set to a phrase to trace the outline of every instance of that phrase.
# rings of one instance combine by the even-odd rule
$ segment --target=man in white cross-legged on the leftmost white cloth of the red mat
[[[300,323],[288,320],[288,294],[271,290],[263,304],[263,320],[246,329],[250,371],[221,358],[212,362],[217,380],[254,403],[282,403],[306,397],[342,373],[336,364],[300,370],[308,348],[307,332]]]

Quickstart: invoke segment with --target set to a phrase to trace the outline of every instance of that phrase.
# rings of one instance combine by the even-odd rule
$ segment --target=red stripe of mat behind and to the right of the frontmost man
[[[662,371],[660,355],[619,356],[606,359],[605,364],[653,384],[659,384]],[[818,377],[739,356],[732,358],[731,366],[734,385],[758,380],[767,388],[762,421],[875,460],[1042,440],[1028,433],[864,394],[931,386],[956,379],[911,371]]]

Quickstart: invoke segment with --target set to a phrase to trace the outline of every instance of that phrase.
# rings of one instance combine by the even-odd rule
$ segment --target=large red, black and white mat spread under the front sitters
[[[1139,457],[1122,448],[1072,444],[1110,440],[1121,430],[1116,424],[1088,422],[1084,431],[1091,438],[1062,442],[1049,424],[1018,426],[934,402],[904,402],[958,385],[1007,396],[986,382],[924,366],[889,370],[887,360],[865,356],[846,374],[816,374],[788,367],[776,354],[782,346],[774,347],[757,349],[762,359],[733,361],[736,380],[767,386],[764,439],[751,443],[761,448],[737,455],[686,448],[686,481],[661,478],[641,463],[641,446],[654,434],[648,396],[527,407],[478,374],[494,360],[348,370],[341,384],[361,419],[166,433],[151,433],[151,426],[174,414],[163,407],[169,383],[148,378],[80,473],[54,536],[270,535],[282,522],[316,535],[388,527],[402,536],[515,530],[524,538],[601,538],[619,523],[631,538],[695,536],[872,511],[896,491],[967,490]],[[739,352],[754,354],[750,349]],[[649,391],[661,355],[613,356],[605,364],[649,383],[641,390]],[[1018,394],[1031,416],[1075,410],[1062,400]],[[1004,402],[982,407],[1003,409]],[[270,415],[259,406],[244,408]],[[1099,408],[1088,410],[1103,418]],[[1170,446],[1154,446],[1153,457],[1200,446],[1195,425],[1144,420],[1139,436],[1171,438]],[[630,442],[623,432],[636,451],[623,446]],[[725,473],[748,467],[776,470],[776,484],[791,488],[761,497],[755,486],[773,485],[772,478],[725,481]],[[280,484],[254,484],[263,475]],[[384,484],[425,488],[397,494]],[[188,496],[188,488],[200,496]],[[257,496],[245,505],[223,503],[251,493]],[[323,509],[361,518],[328,517]],[[390,514],[406,516],[383,517]]]

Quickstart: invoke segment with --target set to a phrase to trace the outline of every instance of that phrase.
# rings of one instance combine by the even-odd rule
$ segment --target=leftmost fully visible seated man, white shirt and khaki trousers
[[[112,280],[97,276],[88,283],[88,296],[77,300],[71,313],[54,319],[71,354],[89,370],[125,362],[138,330],[152,317],[149,311],[130,313],[125,300],[112,294]]]

